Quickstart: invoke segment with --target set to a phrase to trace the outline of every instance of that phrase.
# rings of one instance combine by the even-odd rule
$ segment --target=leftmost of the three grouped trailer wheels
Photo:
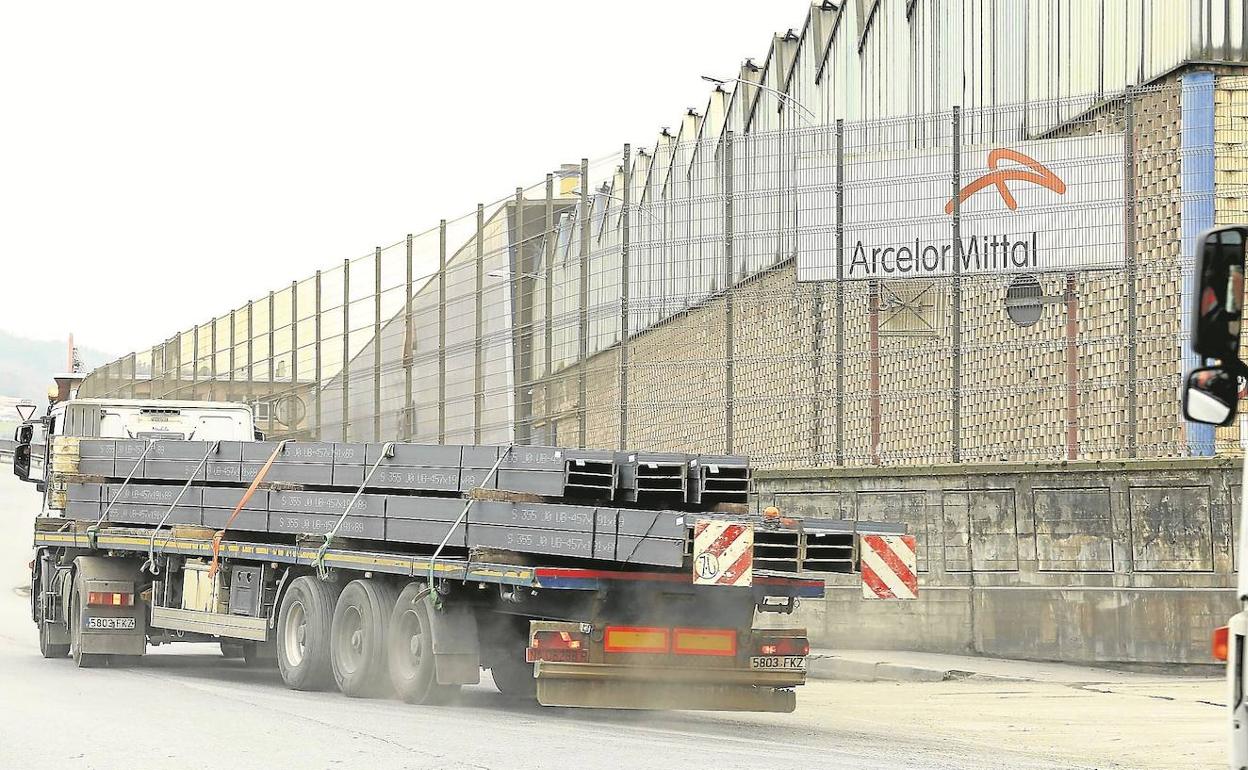
[[[293,690],[323,690],[333,680],[329,626],[341,589],[303,575],[291,582],[277,614],[277,668]]]

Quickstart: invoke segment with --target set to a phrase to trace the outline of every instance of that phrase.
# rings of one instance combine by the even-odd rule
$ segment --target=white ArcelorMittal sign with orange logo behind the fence
[[[1124,265],[1123,136],[846,152],[842,275],[849,281],[1114,270]],[[797,280],[836,272],[836,168],[801,157]],[[960,238],[953,241],[955,210]]]

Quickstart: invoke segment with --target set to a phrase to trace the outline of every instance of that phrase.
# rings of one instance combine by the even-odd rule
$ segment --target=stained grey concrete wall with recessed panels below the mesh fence
[[[1209,663],[1236,612],[1239,464],[1177,459],[759,472],[758,504],[904,522],[916,602],[829,578],[799,610],[822,646]]]

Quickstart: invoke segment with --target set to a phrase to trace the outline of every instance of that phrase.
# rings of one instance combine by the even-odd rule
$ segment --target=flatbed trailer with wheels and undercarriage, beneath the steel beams
[[[748,588],[701,587],[670,570],[222,542],[222,574],[275,573],[268,610],[250,616],[231,614],[228,602],[207,610],[170,602],[185,565],[213,557],[207,533],[80,524],[35,524],[32,616],[45,656],[90,666],[132,663],[149,643],[241,643],[253,663],[276,658],[290,686],[336,680],[348,695],[378,695],[387,674],[413,703],[443,701],[489,668],[504,694],[544,705],[789,711],[805,681],[805,631],[751,620],[756,609],[824,595],[821,579],[765,572]],[[343,612],[331,612],[331,599]],[[349,633],[333,633],[336,618]]]

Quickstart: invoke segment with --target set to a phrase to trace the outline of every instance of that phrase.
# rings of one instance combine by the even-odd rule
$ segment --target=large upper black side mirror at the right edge
[[[1224,363],[1239,361],[1246,236],[1244,227],[1218,227],[1202,233],[1196,247],[1192,352]]]

